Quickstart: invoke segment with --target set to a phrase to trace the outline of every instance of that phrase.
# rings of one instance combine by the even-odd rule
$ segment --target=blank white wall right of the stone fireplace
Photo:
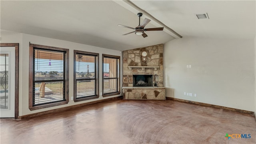
[[[254,111],[254,58],[253,39],[184,37],[167,42],[166,96]]]

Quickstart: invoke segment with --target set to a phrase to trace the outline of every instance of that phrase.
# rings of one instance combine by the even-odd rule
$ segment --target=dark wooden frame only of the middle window
[[[95,82],[97,83],[96,86],[97,88],[95,89],[96,95],[94,96],[88,96],[88,97],[84,97],[84,98],[76,98],[76,55],[77,54],[82,54],[82,55],[88,55],[88,56],[97,56],[97,64],[95,64],[95,70],[96,70],[96,80]],[[94,78],[95,79],[95,78]],[[94,52],[84,52],[84,51],[80,51],[80,50],[74,50],[74,102],[80,102],[80,101],[84,101],[84,100],[92,100],[92,99],[96,99],[99,98],[99,54],[98,53],[94,53]]]

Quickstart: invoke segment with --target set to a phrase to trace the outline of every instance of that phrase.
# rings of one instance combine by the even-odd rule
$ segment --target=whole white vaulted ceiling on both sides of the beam
[[[148,31],[148,37],[122,36],[138,26],[138,7],[151,19],[145,28],[168,26],[183,37],[254,38],[256,1],[0,1],[2,30],[10,30],[88,44],[114,50],[128,50],[162,44],[178,38],[167,27]],[[208,13],[198,20],[195,14]],[[148,14],[146,14],[148,13]],[[149,15],[150,14],[150,15]],[[153,18],[157,20],[153,20]]]

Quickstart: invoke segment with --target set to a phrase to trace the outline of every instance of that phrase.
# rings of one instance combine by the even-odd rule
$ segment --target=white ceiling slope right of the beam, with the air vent
[[[209,38],[254,38],[256,1],[165,0],[137,1],[134,4],[185,36]],[[195,14],[207,13],[209,19]]]

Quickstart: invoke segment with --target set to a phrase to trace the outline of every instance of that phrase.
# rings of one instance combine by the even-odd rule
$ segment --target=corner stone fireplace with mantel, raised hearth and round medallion
[[[163,80],[163,44],[123,51],[123,99],[165,100]]]

